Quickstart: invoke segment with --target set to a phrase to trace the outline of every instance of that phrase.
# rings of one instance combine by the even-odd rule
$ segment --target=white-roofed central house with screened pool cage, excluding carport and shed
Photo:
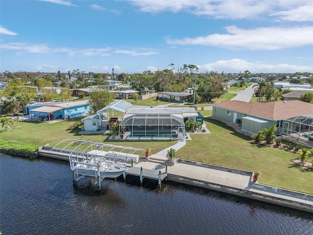
[[[194,108],[130,108],[119,125],[120,137],[128,140],[184,139],[184,122],[197,117]]]

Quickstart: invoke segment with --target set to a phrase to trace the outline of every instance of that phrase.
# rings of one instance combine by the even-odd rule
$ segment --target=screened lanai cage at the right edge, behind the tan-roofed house
[[[313,142],[313,115],[285,119],[282,133]]]

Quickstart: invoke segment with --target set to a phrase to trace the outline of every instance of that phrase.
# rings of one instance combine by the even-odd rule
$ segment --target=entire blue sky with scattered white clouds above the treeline
[[[0,72],[313,72],[312,0],[0,0]]]

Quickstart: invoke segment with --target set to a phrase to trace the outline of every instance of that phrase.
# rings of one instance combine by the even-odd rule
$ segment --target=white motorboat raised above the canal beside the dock
[[[123,174],[124,171],[128,170],[123,164],[97,158],[85,159],[83,161],[69,158],[69,162],[71,170],[73,170],[75,174],[100,177],[101,180],[104,178],[116,178]]]

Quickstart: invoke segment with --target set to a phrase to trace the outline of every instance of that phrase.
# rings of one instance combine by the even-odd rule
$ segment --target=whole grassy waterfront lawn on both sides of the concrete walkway
[[[79,129],[68,130],[78,120],[70,119],[56,123],[37,121],[15,121],[9,131],[0,130],[0,147],[14,146],[12,142],[21,142],[33,146],[49,143],[54,146],[65,139],[82,139]],[[190,134],[186,145],[177,151],[177,157],[208,164],[259,171],[259,183],[279,188],[288,188],[313,194],[313,172],[295,166],[290,159],[296,154],[260,144],[251,143],[248,136],[235,132],[224,123],[210,118],[204,119],[210,134]],[[169,147],[176,141],[109,141],[108,135],[84,136],[84,140],[107,144],[151,148],[151,153]],[[142,152],[140,155],[144,155]]]

